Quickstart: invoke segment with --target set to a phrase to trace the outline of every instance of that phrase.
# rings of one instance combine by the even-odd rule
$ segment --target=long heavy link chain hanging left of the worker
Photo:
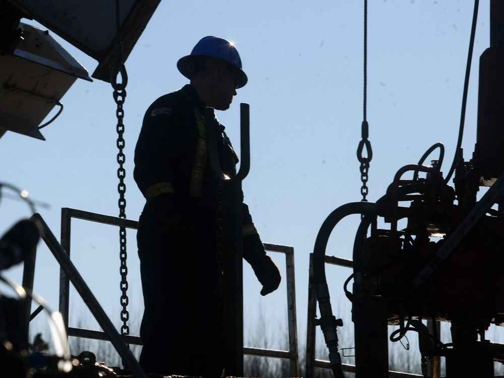
[[[124,110],[122,109],[122,105],[126,99],[126,84],[128,83],[128,76],[126,74],[126,69],[124,65],[121,63],[118,73],[122,78],[121,83],[117,83],[117,75],[114,77],[112,81],[112,87],[114,89],[113,97],[114,101],[117,105],[117,109],[115,111],[115,115],[117,117],[117,142],[116,146],[119,152],[117,153],[117,163],[119,164],[119,168],[117,169],[117,178],[119,179],[119,183],[117,185],[117,193],[119,194],[118,206],[119,206],[119,218],[126,218],[126,199],[124,198],[124,194],[126,193],[126,184],[124,183],[124,178],[126,177],[126,170],[124,169],[124,163],[126,161],[126,156],[124,155],[123,149],[125,147],[124,144],[124,123],[122,119],[124,118]],[[121,326],[121,335],[129,335],[130,327],[128,326],[128,320],[130,319],[130,313],[128,312],[128,266],[126,265],[128,254],[126,250],[126,228],[119,227],[119,259],[120,259],[120,268],[119,272],[121,275],[120,289],[121,289],[121,297],[120,304],[122,306],[122,310],[120,313],[120,319],[122,321]]]

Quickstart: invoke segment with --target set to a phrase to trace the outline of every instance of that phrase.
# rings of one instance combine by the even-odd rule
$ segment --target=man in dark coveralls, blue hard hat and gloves
[[[137,241],[145,311],[140,364],[148,372],[220,376],[223,358],[220,181],[210,168],[205,107],[229,108],[247,77],[235,46],[205,37],[177,62],[190,85],[147,109],[135,149],[135,181],[147,200]],[[225,174],[238,157],[217,122]],[[248,207],[243,204],[243,258],[263,285],[280,284]]]

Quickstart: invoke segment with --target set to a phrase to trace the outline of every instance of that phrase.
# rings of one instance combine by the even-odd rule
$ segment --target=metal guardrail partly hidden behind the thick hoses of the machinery
[[[337,265],[340,267],[353,268],[353,261],[342,259],[334,256],[325,256],[325,263]],[[308,320],[306,332],[306,377],[314,378],[315,368],[331,369],[331,363],[325,360],[315,359],[315,331],[317,318],[317,294],[313,283],[313,254],[310,254],[309,259],[309,275],[308,275]],[[342,364],[342,370],[355,373],[355,365]],[[400,371],[389,370],[389,378],[414,378],[422,377],[423,375],[404,373]]]

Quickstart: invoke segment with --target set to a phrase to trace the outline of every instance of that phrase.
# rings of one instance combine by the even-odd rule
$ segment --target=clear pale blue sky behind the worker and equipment
[[[463,142],[466,160],[476,138],[478,60],[489,44],[488,3],[480,5],[474,46]],[[369,2],[370,201],[385,194],[401,166],[416,163],[436,142],[446,147],[442,170],[449,170],[460,121],[473,4],[465,0]],[[133,180],[133,155],[145,109],[186,83],[176,61],[206,35],[234,41],[248,75],[248,84],[238,90],[231,109],[218,112],[217,117],[239,150],[238,104],[250,104],[251,169],[243,182],[245,201],[263,242],[294,246],[298,337],[304,344],[308,254],[329,213],[361,198],[356,148],[362,121],[363,1],[163,0],[126,62],[129,219],[138,220],[144,205]],[[90,74],[94,71],[95,60],[65,41],[61,44]],[[78,80],[61,102],[65,110],[42,130],[45,142],[10,132],[0,140],[0,180],[50,204],[50,210],[37,210],[56,237],[62,207],[118,215],[116,120],[110,85]],[[2,231],[30,215],[25,204],[7,198],[0,203],[0,214]],[[351,258],[358,218],[336,227],[328,255]],[[78,220],[72,227],[72,260],[118,323],[118,230]],[[57,309],[58,268],[43,242],[39,246],[34,289]],[[130,311],[138,318],[142,298],[133,231],[128,231],[128,248]],[[284,269],[282,256],[272,256]],[[244,269],[246,323],[254,324],[262,309],[273,327],[280,324],[287,329],[285,284],[262,298],[248,265]],[[8,275],[20,282],[20,272],[12,269]],[[333,311],[349,320],[341,283],[351,272],[337,268],[328,272]],[[71,306],[85,314],[73,294]],[[337,303],[346,306],[346,313],[340,313]],[[346,327],[353,325],[348,321]],[[138,328],[132,334],[138,335]]]

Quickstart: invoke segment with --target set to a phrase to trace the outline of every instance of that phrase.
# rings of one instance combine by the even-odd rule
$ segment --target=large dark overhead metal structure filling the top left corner
[[[91,80],[49,31],[21,19],[37,21],[96,59],[92,77],[111,82],[117,72],[116,40],[122,42],[124,62],[159,2],[121,0],[117,33],[115,2],[0,0],[0,137],[9,130],[44,140],[42,120],[54,105],[62,108],[59,101],[77,78]]]

